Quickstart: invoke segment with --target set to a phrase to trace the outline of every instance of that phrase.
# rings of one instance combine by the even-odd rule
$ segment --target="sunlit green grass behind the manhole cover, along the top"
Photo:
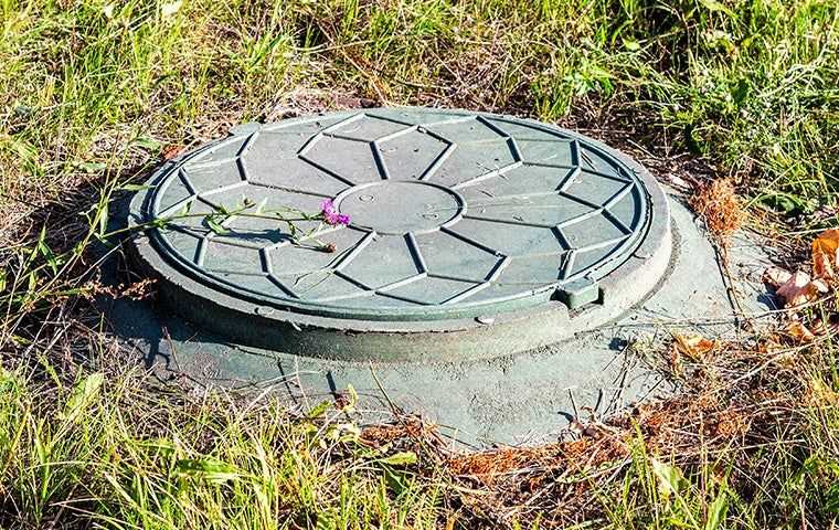
[[[810,211],[836,184],[830,0],[7,0],[0,10],[6,190],[35,178],[57,193],[56,181],[95,172],[131,139],[195,141],[307,93],[317,105],[343,93],[550,120],[623,108],[645,116],[651,141],[667,135],[709,156],[782,210]]]

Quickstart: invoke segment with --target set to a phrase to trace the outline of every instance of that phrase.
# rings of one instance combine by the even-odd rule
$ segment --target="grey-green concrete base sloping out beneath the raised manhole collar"
[[[457,363],[330,361],[232,344],[152,303],[114,300],[108,314],[115,332],[163,377],[272,389],[300,407],[352,385],[362,398],[362,423],[386,418],[393,403],[469,445],[555,441],[575,416],[608,415],[678,390],[627,349],[634,339],[686,328],[707,337],[735,330],[712,245],[684,206],[676,200],[671,206],[676,241],[670,271],[640,307],[574,340],[512,357]],[[740,239],[731,254],[744,311],[772,308],[762,296],[760,269],[766,259],[760,245]]]

